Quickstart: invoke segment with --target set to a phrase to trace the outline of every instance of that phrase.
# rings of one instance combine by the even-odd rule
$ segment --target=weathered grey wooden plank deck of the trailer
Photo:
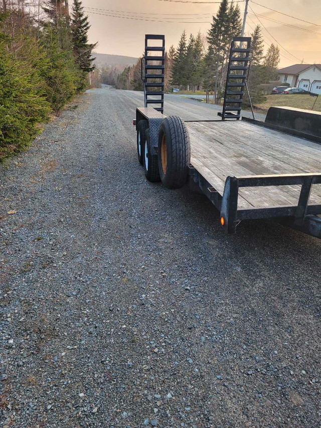
[[[223,195],[228,176],[321,173],[321,146],[245,121],[185,122],[191,164]],[[295,206],[301,186],[240,188],[238,208]],[[312,186],[309,205],[321,204],[321,185]]]

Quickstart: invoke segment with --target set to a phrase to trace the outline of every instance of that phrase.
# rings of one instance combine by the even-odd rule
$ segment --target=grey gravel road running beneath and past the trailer
[[[319,428],[321,241],[148,183],[141,103],[88,91],[0,166],[0,426]]]

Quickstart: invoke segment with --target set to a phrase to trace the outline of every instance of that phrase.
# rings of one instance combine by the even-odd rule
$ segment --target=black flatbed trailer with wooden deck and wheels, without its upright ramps
[[[138,158],[148,180],[173,189],[189,177],[220,211],[228,233],[244,219],[275,218],[321,237],[321,145],[315,138],[263,122],[183,121],[162,111],[136,109]]]

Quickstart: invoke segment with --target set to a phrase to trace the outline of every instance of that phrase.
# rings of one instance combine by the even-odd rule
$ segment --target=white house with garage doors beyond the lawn
[[[278,70],[279,80],[291,88],[303,88],[321,94],[321,64],[294,64]]]

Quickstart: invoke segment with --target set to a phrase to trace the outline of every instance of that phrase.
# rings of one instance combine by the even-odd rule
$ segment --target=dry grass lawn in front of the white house
[[[311,110],[315,97],[309,95],[267,95],[266,101],[255,104],[255,107],[267,111],[269,107],[295,107]],[[314,111],[321,111],[321,95],[318,96],[313,108]]]

